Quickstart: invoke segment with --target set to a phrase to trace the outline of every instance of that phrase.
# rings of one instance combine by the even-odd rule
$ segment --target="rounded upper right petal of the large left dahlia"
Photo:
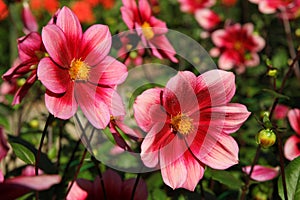
[[[111,34],[105,25],[93,25],[82,37],[80,57],[89,66],[95,66],[105,58],[111,47]]]

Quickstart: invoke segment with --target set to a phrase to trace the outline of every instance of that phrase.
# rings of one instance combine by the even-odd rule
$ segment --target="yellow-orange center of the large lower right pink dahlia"
[[[188,135],[193,130],[193,120],[185,114],[179,113],[171,118],[172,128],[182,135]]]

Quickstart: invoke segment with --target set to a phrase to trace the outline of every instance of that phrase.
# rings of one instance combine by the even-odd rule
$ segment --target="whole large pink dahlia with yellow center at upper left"
[[[69,119],[80,106],[93,126],[104,128],[110,120],[115,87],[127,76],[126,66],[108,56],[108,27],[96,24],[82,33],[76,15],[63,7],[56,24],[43,28],[42,39],[49,57],[40,61],[37,73],[47,88],[50,113]]]

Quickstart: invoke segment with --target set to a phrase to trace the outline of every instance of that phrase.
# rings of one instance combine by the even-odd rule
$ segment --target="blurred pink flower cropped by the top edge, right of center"
[[[178,0],[180,3],[180,9],[182,12],[188,12],[195,14],[195,12],[199,9],[209,8],[215,5],[216,0]]]

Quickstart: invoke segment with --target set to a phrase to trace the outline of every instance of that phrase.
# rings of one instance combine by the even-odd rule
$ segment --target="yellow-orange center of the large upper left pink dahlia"
[[[73,59],[70,65],[69,74],[72,80],[86,81],[89,78],[90,66],[81,59]]]

